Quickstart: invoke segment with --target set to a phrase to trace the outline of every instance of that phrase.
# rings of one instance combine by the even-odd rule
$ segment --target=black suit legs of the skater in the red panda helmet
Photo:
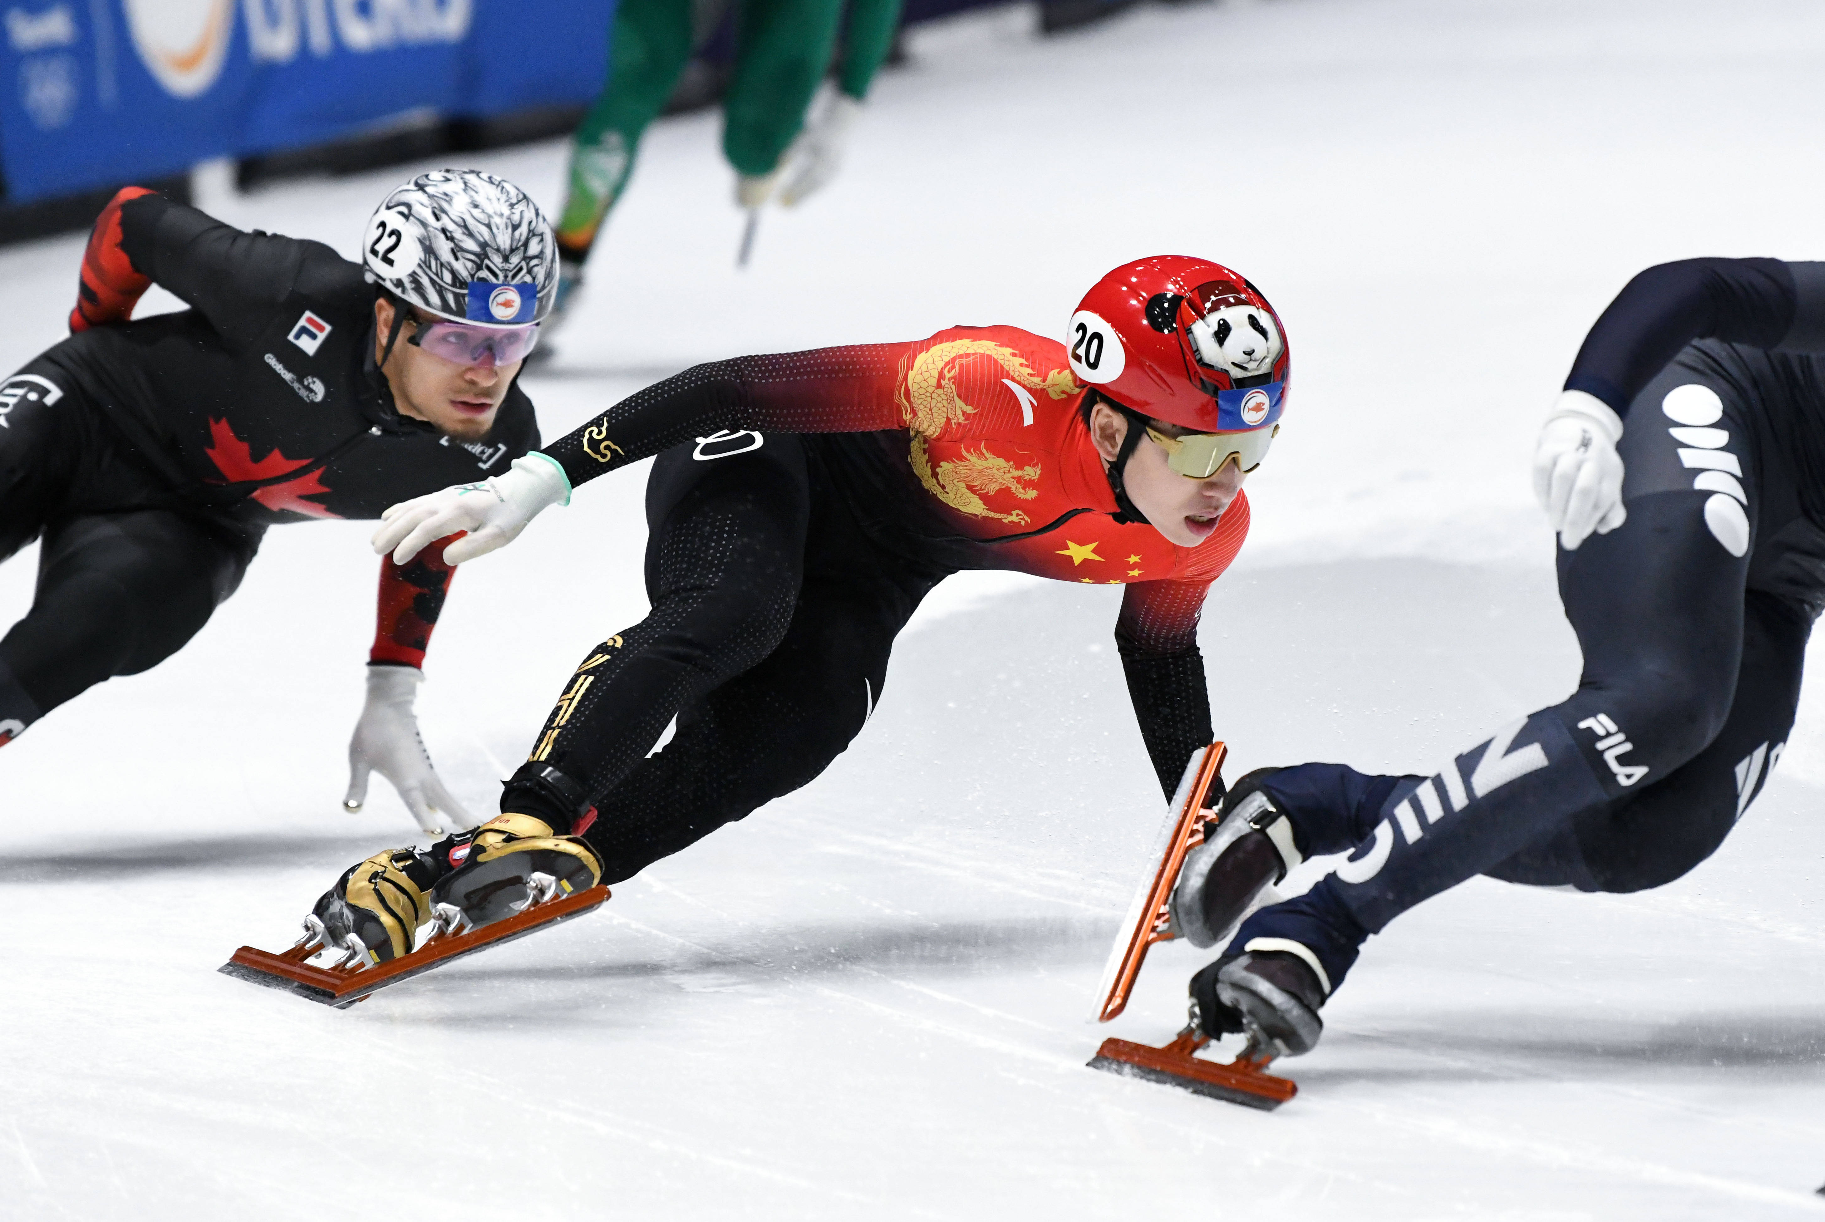
[[[560,829],[597,806],[584,837],[604,882],[829,767],[880,700],[894,636],[945,575],[869,541],[798,437],[704,451],[655,460],[653,608],[589,650],[502,795],[504,811]],[[673,714],[675,736],[648,756]]]

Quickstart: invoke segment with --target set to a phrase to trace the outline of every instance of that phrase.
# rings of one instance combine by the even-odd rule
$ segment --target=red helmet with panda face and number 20
[[[1270,427],[1290,353],[1279,314],[1237,272],[1179,254],[1124,263],[1071,314],[1071,373],[1155,420],[1197,433]]]

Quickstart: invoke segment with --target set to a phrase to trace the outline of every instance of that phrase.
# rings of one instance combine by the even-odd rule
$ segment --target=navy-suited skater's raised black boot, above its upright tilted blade
[[[1305,860],[1292,822],[1261,789],[1281,769],[1261,767],[1237,780],[1212,831],[1192,849],[1172,890],[1172,926],[1192,946],[1215,946],[1256,897]]]

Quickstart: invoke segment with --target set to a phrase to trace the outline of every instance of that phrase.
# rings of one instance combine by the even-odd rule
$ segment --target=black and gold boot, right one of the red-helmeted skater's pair
[[[456,869],[433,890],[445,928],[480,926],[524,911],[533,902],[588,891],[602,880],[602,859],[582,837],[555,835],[531,815],[496,815],[473,840],[451,851]]]

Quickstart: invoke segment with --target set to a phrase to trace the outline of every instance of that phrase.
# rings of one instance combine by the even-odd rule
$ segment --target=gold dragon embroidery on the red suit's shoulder
[[[1040,378],[1018,353],[987,340],[938,343],[920,353],[912,360],[911,371],[903,373],[896,402],[912,431],[912,471],[925,490],[960,513],[1026,526],[1033,519],[1020,510],[996,513],[982,499],[1011,491],[1022,500],[1031,500],[1038,490],[1027,488],[1027,480],[1038,479],[1038,464],[1017,468],[1007,458],[991,453],[984,444],[975,453],[965,446],[956,458],[940,462],[938,469],[933,471],[931,455],[925,451],[927,438],[942,433],[945,426],[962,424],[976,411],[956,393],[956,369],[953,365],[956,358],[975,354],[993,356],[1013,382],[1029,391],[1044,391],[1055,400],[1069,398],[1084,387],[1077,384],[1069,369],[1053,369]]]

